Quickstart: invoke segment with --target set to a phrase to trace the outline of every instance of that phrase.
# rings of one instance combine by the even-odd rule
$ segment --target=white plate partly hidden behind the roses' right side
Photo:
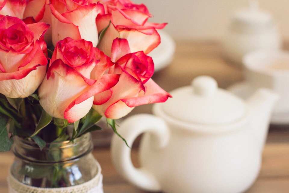
[[[163,30],[159,30],[158,33],[160,34],[161,43],[148,54],[153,58],[154,71],[159,71],[169,65],[172,62],[176,49],[176,44],[169,34]]]

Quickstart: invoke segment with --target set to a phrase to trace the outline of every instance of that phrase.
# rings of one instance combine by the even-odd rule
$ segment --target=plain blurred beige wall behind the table
[[[165,31],[175,40],[220,40],[234,11],[249,0],[132,0],[147,5],[151,22],[168,22]],[[281,36],[289,40],[289,0],[259,0],[259,7],[272,14]]]

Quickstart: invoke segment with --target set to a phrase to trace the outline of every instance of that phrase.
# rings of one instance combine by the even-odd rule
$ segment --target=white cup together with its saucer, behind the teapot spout
[[[257,50],[244,56],[245,81],[228,88],[246,99],[257,88],[265,87],[280,95],[271,123],[289,124],[289,52],[284,50]]]

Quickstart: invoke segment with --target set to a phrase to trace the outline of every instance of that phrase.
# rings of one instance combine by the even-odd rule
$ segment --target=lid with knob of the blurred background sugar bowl
[[[271,27],[275,25],[275,22],[269,13],[259,9],[257,1],[250,1],[248,8],[235,12],[232,24],[251,27]]]

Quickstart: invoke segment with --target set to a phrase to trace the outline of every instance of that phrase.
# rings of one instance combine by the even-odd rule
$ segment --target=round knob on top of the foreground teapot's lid
[[[199,76],[192,81],[194,93],[199,96],[214,96],[218,90],[218,84],[210,76]]]

